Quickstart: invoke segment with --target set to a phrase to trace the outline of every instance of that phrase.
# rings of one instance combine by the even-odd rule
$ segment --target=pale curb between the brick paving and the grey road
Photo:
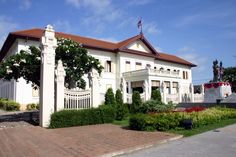
[[[175,137],[172,137],[172,138],[168,138],[168,139],[165,139],[165,140],[158,141],[158,142],[153,143],[153,144],[145,144],[145,145],[137,146],[137,147],[134,147],[134,148],[131,148],[131,149],[126,149],[126,150],[121,150],[121,151],[117,151],[117,152],[107,153],[107,154],[101,155],[100,157],[113,157],[113,156],[128,154],[128,153],[132,153],[132,152],[135,152],[135,151],[138,151],[138,150],[147,149],[147,148],[159,145],[159,144],[164,144],[164,143],[167,143],[167,142],[170,142],[170,141],[175,141],[175,140],[178,140],[178,139],[181,139],[181,138],[183,138],[183,135],[178,135],[178,136],[175,136]]]

